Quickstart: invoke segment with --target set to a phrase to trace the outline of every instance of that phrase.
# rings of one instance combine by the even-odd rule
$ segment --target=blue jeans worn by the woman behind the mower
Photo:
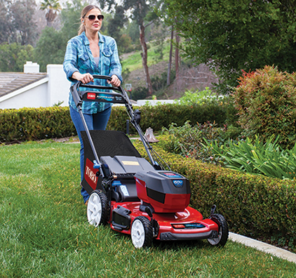
[[[99,112],[97,114],[83,114],[84,119],[86,119],[86,124],[89,130],[100,130],[105,131],[107,123],[109,121],[109,117],[111,114],[111,107],[107,108],[106,110]],[[76,128],[79,140],[80,140],[80,173],[81,173],[81,180],[83,180],[83,172],[84,172],[84,147],[83,147],[83,140],[81,138],[81,131],[85,131],[84,126],[81,121],[81,117],[79,112],[76,112],[70,106],[70,115],[74,126]],[[89,195],[88,192],[82,187],[81,188],[81,195],[83,197],[84,203],[88,200]]]

